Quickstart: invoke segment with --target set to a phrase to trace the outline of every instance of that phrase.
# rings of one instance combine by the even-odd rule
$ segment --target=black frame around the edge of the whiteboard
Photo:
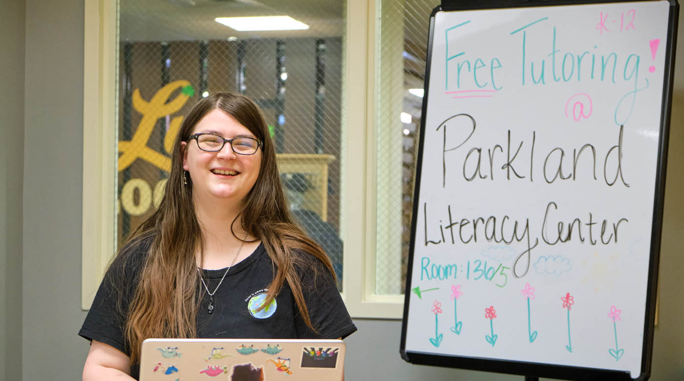
[[[423,107],[421,111],[421,131],[419,135],[418,157],[416,162],[416,177],[413,200],[419,199],[421,185],[421,169],[423,168],[423,137],[425,135],[425,117],[428,109],[428,94],[430,83],[430,67],[432,66],[432,41],[434,40],[434,17],[437,12],[459,10],[482,10],[519,7],[538,7],[546,5],[585,5],[593,3],[627,3],[629,0],[443,0],[430,14],[430,33],[428,35],[428,51],[425,60],[425,83]],[[674,47],[676,47],[676,32],[679,18],[679,3],[668,0],[670,12],[668,16],[668,42],[666,44],[666,70],[663,78],[663,103],[660,114],[660,135],[658,142],[658,157],[655,177],[653,200],[653,224],[651,226],[650,260],[648,262],[648,285],[646,290],[646,310],[644,318],[644,341],[642,344],[642,365],[640,376],[633,379],[629,371],[614,371],[588,367],[570,367],[565,365],[550,365],[546,363],[527,363],[522,361],[495,360],[468,356],[446,356],[429,352],[406,351],[406,321],[408,320],[409,302],[411,295],[411,279],[413,268],[413,254],[416,241],[416,226],[419,205],[413,203],[411,219],[411,239],[408,252],[406,270],[406,289],[404,291],[404,318],[402,319],[402,339],[399,354],[408,363],[420,365],[434,365],[490,371],[495,373],[510,373],[522,376],[536,376],[557,378],[562,380],[648,380],[650,377],[651,358],[653,356],[653,334],[655,324],[655,308],[657,300],[658,265],[660,259],[660,240],[663,223],[663,201],[665,196],[665,174],[668,161],[668,142],[670,138],[670,111],[672,109],[672,86],[674,79]]]

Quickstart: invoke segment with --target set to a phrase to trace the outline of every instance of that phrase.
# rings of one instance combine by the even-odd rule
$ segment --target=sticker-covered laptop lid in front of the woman
[[[146,339],[140,381],[342,380],[344,356],[339,339]]]

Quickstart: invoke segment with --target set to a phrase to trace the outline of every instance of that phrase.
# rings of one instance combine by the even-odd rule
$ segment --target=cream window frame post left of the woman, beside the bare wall
[[[114,257],[117,0],[84,2],[81,308],[92,304]],[[115,130],[116,131],[116,130]]]

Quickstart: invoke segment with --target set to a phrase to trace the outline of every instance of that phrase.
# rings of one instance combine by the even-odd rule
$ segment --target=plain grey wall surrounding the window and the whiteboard
[[[0,379],[79,380],[88,351],[76,335],[85,317],[80,308],[83,0],[3,1],[0,32]],[[681,66],[677,73],[684,77]],[[684,89],[676,91],[672,108],[651,378],[656,381],[684,379],[679,272]],[[356,324],[359,332],[347,339],[347,380],[522,379],[409,365],[399,358],[400,321],[358,319]]]

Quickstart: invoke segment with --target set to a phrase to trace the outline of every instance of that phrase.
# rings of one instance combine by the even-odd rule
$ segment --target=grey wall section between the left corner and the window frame
[[[76,334],[86,316],[81,311],[83,0],[25,0],[25,5],[23,303],[10,306],[21,310],[21,362],[8,366],[21,368],[26,381],[80,380],[88,351]],[[11,21],[4,12],[0,18]],[[15,344],[6,343],[8,350],[16,350]]]

